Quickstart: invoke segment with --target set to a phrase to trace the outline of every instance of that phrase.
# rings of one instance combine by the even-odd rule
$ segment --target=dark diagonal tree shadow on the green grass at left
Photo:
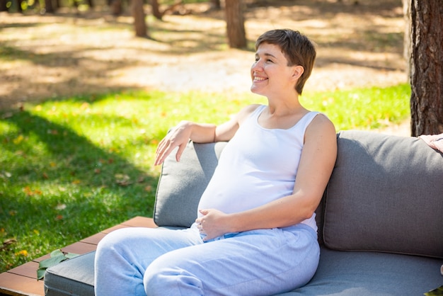
[[[114,224],[151,217],[157,178],[27,111],[0,120],[0,272]],[[27,258],[17,256],[26,250]]]

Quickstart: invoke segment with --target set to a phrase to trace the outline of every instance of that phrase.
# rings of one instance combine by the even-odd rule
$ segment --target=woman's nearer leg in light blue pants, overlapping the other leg
[[[273,295],[309,282],[316,233],[263,229],[171,251],[146,268],[146,295]]]

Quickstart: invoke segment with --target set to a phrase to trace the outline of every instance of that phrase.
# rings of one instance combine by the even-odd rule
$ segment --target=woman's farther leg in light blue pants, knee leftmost
[[[146,267],[168,251],[195,244],[202,244],[197,229],[125,228],[111,232],[97,246],[96,295],[146,295]]]

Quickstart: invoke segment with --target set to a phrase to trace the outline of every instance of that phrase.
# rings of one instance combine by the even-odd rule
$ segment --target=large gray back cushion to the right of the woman
[[[339,133],[326,188],[326,246],[443,258],[442,213],[442,154],[416,137]]]

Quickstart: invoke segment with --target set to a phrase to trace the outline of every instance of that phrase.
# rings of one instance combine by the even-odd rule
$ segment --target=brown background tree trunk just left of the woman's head
[[[226,31],[229,47],[246,47],[245,19],[241,0],[226,0]]]

